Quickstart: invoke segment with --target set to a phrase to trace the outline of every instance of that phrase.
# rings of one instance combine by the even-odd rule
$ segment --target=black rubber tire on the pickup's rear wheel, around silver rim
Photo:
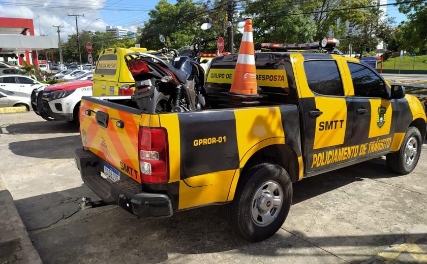
[[[265,240],[276,234],[277,230],[279,230],[288,216],[292,203],[291,179],[282,167],[272,163],[257,164],[246,172],[243,171],[240,177],[242,177],[241,182],[237,185],[234,199],[227,205],[229,222],[236,232],[246,240],[250,242]],[[265,197],[263,195],[268,194],[268,192],[266,192],[267,189],[260,188],[265,186],[265,184],[268,186],[270,184],[276,184],[277,187],[280,186],[283,197],[281,206],[278,207],[280,209],[269,207],[268,199],[266,199],[267,202],[264,203],[264,206],[267,206],[267,210],[265,210],[266,212],[264,213],[262,212],[261,206],[263,203],[260,203],[261,198],[256,199],[255,194],[259,193],[258,191],[261,190],[263,192],[261,196],[263,197],[262,199],[264,199]],[[277,191],[279,191],[279,189],[273,192],[274,196],[278,194]],[[272,206],[271,203],[272,202],[270,202],[270,206]],[[263,225],[263,217],[258,215],[258,217],[254,219],[252,215],[252,212],[254,212],[253,208],[256,208],[256,211],[260,212],[260,214],[269,213],[273,216],[273,220],[269,223],[265,221],[264,224],[267,225]]]

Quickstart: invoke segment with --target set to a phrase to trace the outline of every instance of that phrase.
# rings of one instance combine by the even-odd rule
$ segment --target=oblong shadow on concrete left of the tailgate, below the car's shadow
[[[17,141],[9,144],[16,155],[35,158],[74,158],[74,150],[81,148],[80,135]]]

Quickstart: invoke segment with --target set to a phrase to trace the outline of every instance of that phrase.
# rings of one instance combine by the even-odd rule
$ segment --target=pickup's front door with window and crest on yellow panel
[[[373,69],[357,62],[347,65],[354,89],[351,144],[360,146],[360,156],[386,152],[398,116],[396,101],[390,99],[390,88]]]

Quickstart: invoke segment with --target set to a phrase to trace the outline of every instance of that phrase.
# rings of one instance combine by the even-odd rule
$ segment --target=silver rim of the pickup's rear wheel
[[[267,226],[279,216],[283,204],[283,190],[276,181],[263,183],[252,196],[252,221],[258,226]]]

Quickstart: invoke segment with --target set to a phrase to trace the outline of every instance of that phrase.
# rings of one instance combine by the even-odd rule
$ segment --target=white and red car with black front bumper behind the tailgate
[[[92,95],[92,81],[57,83],[34,90],[31,105],[34,112],[48,121],[77,122],[82,96]]]

